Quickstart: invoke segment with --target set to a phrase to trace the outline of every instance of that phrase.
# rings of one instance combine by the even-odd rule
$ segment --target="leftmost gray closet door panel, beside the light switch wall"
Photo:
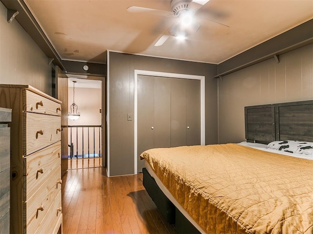
[[[144,160],[140,160],[140,154],[154,148],[154,77],[138,76],[137,105],[137,169],[141,172]]]

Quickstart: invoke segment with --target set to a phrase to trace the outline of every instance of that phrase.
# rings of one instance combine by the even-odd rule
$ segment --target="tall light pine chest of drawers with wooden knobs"
[[[29,85],[1,85],[12,109],[10,233],[62,233],[61,102]]]

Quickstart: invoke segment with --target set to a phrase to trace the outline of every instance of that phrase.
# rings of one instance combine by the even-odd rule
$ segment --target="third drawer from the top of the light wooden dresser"
[[[61,141],[24,157],[24,199],[28,200],[61,165]]]

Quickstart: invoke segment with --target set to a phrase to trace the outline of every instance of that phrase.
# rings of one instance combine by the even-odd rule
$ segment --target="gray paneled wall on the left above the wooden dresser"
[[[7,9],[0,2],[0,83],[29,84],[46,94],[52,93],[48,58],[13,20],[7,22]]]

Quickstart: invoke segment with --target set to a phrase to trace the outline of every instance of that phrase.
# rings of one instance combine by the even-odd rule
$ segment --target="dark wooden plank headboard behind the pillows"
[[[313,100],[245,107],[246,140],[313,142]]]

